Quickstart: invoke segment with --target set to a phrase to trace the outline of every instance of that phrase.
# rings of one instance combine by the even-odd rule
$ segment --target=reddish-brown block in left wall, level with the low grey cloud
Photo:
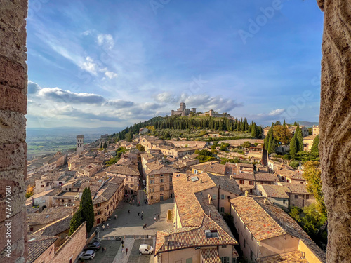
[[[0,110],[27,114],[27,95],[25,95],[24,90],[8,88],[0,83],[0,97]],[[4,124],[1,123],[1,125]]]

